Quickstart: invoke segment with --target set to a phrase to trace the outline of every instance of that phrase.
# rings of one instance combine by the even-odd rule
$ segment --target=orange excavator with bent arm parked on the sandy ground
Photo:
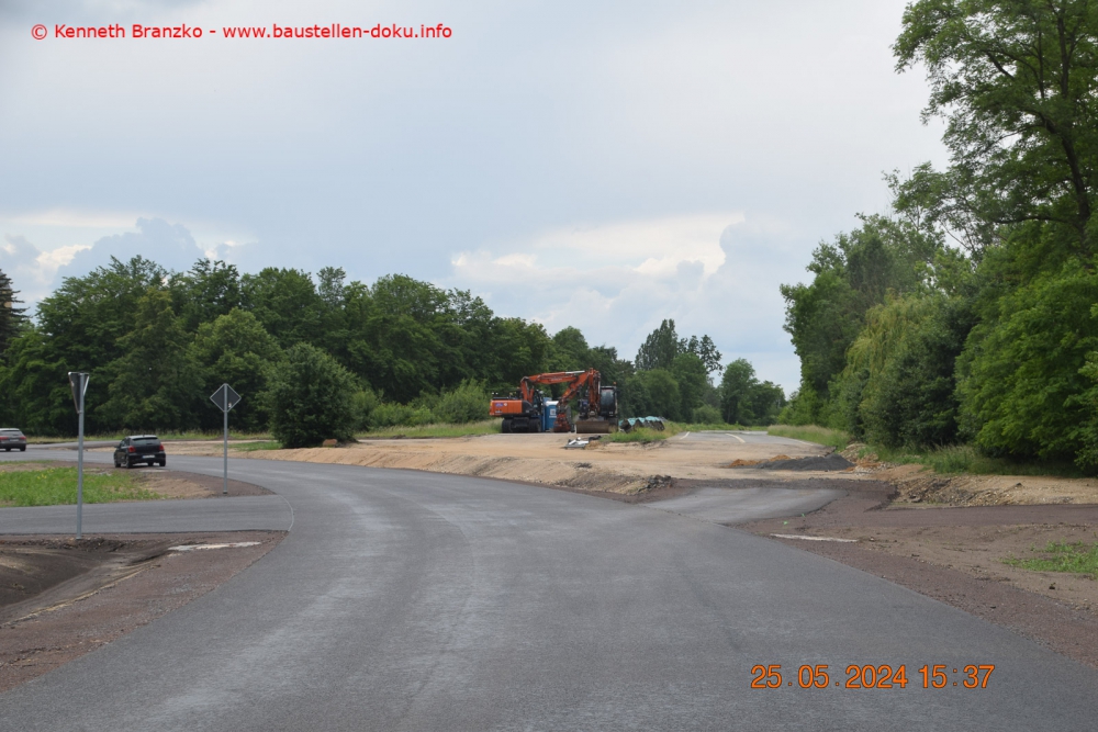
[[[617,425],[617,384],[603,386],[594,369],[586,371],[554,371],[523,376],[518,392],[508,396],[493,396],[489,416],[503,417],[504,432],[609,432]],[[568,384],[557,401],[557,417],[548,424],[545,394],[540,385]],[[574,424],[571,404],[578,402]]]

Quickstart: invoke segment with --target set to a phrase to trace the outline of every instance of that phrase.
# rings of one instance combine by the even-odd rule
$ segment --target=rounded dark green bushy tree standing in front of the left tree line
[[[264,403],[271,433],[283,448],[304,448],[354,436],[355,376],[318,348],[298,344],[270,369]]]

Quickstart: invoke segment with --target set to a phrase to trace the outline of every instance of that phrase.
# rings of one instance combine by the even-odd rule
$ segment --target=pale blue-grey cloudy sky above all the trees
[[[32,306],[112,256],[404,273],[628,359],[674,318],[792,392],[778,286],[945,159],[904,5],[0,0],[0,270]]]

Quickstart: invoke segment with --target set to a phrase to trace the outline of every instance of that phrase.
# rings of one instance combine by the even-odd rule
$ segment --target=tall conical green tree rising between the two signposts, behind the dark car
[[[198,423],[201,375],[171,296],[149,289],[137,302],[133,329],[119,339],[125,356],[109,364],[107,423],[131,430],[186,429]]]

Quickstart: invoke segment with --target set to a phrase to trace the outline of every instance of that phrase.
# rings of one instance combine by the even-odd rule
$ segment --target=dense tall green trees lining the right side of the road
[[[926,67],[951,161],[889,177],[894,213],[783,288],[802,361],[783,418],[1095,471],[1098,13],[920,0],[894,49]]]

